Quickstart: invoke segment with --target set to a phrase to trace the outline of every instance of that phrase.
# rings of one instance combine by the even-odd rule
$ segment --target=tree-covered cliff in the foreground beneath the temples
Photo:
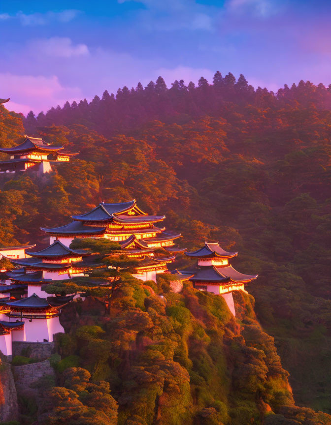
[[[58,370],[80,366],[108,381],[119,425],[261,424],[292,411],[288,373],[253,297],[234,294],[234,318],[222,297],[169,289],[127,276],[109,314],[92,297],[67,305]]]

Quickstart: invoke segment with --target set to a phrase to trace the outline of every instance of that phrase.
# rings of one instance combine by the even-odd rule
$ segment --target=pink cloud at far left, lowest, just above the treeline
[[[45,77],[0,73],[0,87],[4,96],[8,94],[7,97],[12,99],[8,109],[13,108],[16,112],[24,114],[31,109],[47,111],[52,106],[63,105],[67,100],[72,102],[83,97],[78,87],[63,86],[55,75]],[[22,103],[21,99],[24,99]]]

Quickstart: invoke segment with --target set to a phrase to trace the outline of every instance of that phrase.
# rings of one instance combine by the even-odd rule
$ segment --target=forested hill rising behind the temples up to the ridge
[[[10,107],[10,103],[7,104]],[[101,200],[165,213],[183,246],[219,240],[259,273],[249,292],[275,337],[298,405],[331,412],[331,91],[300,82],[276,94],[216,73],[198,87],[162,78],[105,91],[26,120],[0,107],[0,143],[24,134],[80,151],[37,178],[0,177],[2,244],[43,241],[39,227]]]

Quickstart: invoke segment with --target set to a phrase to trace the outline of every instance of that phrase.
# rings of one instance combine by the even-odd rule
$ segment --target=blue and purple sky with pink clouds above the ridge
[[[326,0],[0,0],[0,98],[27,114],[159,75],[331,84]]]

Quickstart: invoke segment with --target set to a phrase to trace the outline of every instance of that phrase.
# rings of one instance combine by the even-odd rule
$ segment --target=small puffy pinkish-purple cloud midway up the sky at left
[[[29,43],[31,54],[34,56],[53,56],[71,58],[89,55],[86,44],[73,44],[68,37],[51,37],[48,39],[32,40]]]

